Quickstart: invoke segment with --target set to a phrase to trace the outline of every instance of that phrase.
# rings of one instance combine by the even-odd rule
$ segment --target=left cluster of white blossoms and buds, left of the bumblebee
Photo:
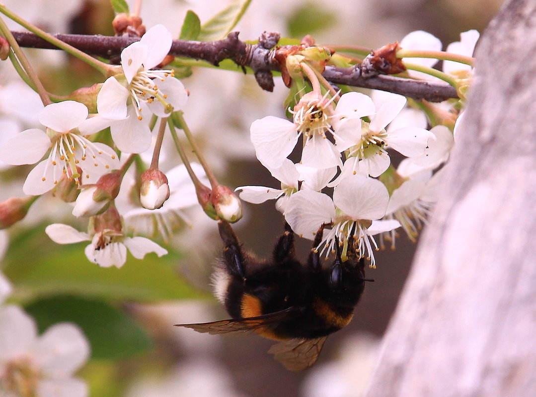
[[[171,44],[168,30],[154,26],[122,51],[121,65],[112,67],[113,75],[96,95],[96,114],[76,101],[49,104],[38,116],[44,131],[26,129],[0,147],[0,160],[6,164],[36,164],[24,182],[24,193],[36,197],[51,191],[74,203],[74,216],[90,218],[87,233],[52,224],[46,228],[49,237],[61,244],[90,241],[87,258],[104,267],[122,266],[127,250],[139,259],[147,253],[167,254],[150,239],[131,234],[167,239],[182,219],[181,210],[197,202],[185,166],[173,167],[166,175],[149,153],[160,151],[151,132],[154,119],[166,119],[188,99],[172,70],[153,70]],[[106,128],[110,146],[98,141],[98,133]],[[162,129],[165,132],[169,130]],[[195,163],[191,168],[206,183],[203,170]],[[4,212],[10,213],[3,227],[24,217],[31,202],[20,199],[4,205]]]

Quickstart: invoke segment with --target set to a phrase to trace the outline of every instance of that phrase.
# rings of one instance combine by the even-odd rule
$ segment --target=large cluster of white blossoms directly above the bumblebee
[[[478,39],[473,32],[462,34],[462,41],[449,49],[472,55]],[[410,49],[411,42],[420,42],[422,36],[429,39],[431,35],[414,32],[401,46]],[[437,39],[425,40],[430,41],[437,43]],[[441,42],[439,46],[427,49],[441,50]],[[468,67],[454,72],[452,65],[445,63],[447,70],[459,78],[470,78]],[[442,172],[434,171],[448,159],[453,133],[444,125],[426,129],[423,113],[415,118],[400,95],[374,95],[378,98],[375,103],[362,93],[339,96],[327,89],[324,94],[314,82],[312,87],[289,109],[293,121],[267,116],[251,125],[257,158],[281,182],[281,188],[241,186],[237,190],[251,203],[277,198],[276,207],[287,223],[305,238],[313,240],[322,225],[331,226],[316,247],[326,256],[336,243],[343,247],[344,256],[348,238],[353,236],[358,255],[369,258],[374,267],[373,251],[378,249],[374,235],[379,234],[382,246],[384,239],[389,239],[394,247],[395,230],[402,227],[415,240],[436,201]],[[457,110],[451,105],[440,106],[443,109],[438,107],[438,111],[450,111],[456,119]],[[294,164],[287,156],[300,136],[301,161]],[[389,149],[406,157],[396,169]],[[326,192],[331,188],[329,195]]]

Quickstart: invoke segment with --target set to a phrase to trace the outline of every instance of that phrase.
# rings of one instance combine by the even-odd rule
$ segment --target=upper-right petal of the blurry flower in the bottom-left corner
[[[35,361],[47,375],[68,377],[90,357],[90,344],[74,324],[54,324],[33,349]]]

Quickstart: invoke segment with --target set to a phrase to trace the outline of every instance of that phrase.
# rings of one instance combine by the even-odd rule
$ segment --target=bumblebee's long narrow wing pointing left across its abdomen
[[[198,324],[175,324],[177,327],[191,328],[197,332],[210,334],[233,334],[263,331],[270,327],[271,324],[278,324],[290,316],[294,308],[288,308],[274,313],[265,314],[257,317],[247,318],[229,318],[227,320],[213,321],[211,323]]]

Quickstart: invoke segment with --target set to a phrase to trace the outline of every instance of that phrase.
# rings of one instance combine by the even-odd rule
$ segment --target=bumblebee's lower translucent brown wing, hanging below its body
[[[292,339],[273,345],[268,353],[285,368],[291,371],[301,371],[316,362],[327,337],[315,339]]]

